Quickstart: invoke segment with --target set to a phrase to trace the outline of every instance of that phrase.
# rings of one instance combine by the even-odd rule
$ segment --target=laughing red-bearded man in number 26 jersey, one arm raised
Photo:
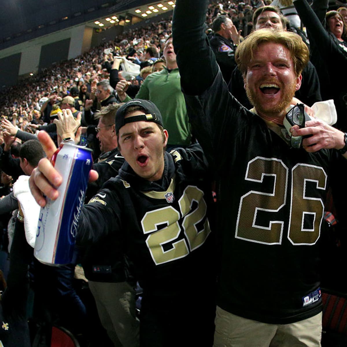
[[[320,346],[321,225],[332,149],[344,154],[347,135],[316,119],[283,126],[309,58],[293,33],[260,29],[238,46],[254,108],[239,104],[205,35],[207,6],[176,0],[172,36],[189,120],[219,184],[214,346]],[[297,149],[291,135],[311,136]]]

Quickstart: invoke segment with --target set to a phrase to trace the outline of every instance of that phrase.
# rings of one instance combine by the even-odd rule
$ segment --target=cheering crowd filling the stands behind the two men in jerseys
[[[288,18],[283,19],[283,28],[287,27],[287,29],[293,30],[301,35],[304,41],[310,44],[311,49],[315,51],[315,57],[312,62],[317,69],[318,77],[314,77],[316,79],[313,78],[310,80],[311,85],[313,80],[315,81],[313,85],[318,85],[314,90],[314,101],[330,98],[334,99],[339,117],[339,115],[346,111],[346,88],[342,88],[341,93],[336,96],[336,98],[331,94],[331,91],[335,90],[332,86],[338,84],[338,80],[341,76],[336,70],[340,67],[332,64],[332,61],[329,59],[341,61],[341,50],[345,52],[347,57],[347,43],[345,41],[347,39],[347,21],[343,21],[347,18],[347,15],[345,15],[345,13],[347,14],[346,8],[342,7],[339,11],[333,13],[329,12],[326,21],[327,31],[322,27],[322,32],[319,34],[321,36],[317,37],[313,32],[315,28],[318,28],[320,23],[312,23],[312,21],[308,19],[310,17],[308,12],[305,12],[304,9],[299,9],[298,11],[299,15],[304,13],[305,19],[303,18],[302,22],[304,22],[307,28],[306,32],[303,30],[301,23],[300,25],[297,24],[299,15],[294,8],[293,2],[277,2],[276,5],[278,7],[291,9],[291,11],[288,12]],[[213,42],[217,42],[215,45],[216,58],[220,64],[223,77],[227,83],[230,82],[230,91],[232,91],[232,83],[234,83],[234,88],[236,86],[235,80],[233,80],[235,76],[231,77],[232,69],[236,67],[234,52],[238,44],[242,42],[252,30],[256,29],[257,18],[254,19],[253,14],[264,6],[271,6],[271,0],[210,2],[206,15],[206,34],[209,39],[211,39],[212,48],[214,47]],[[271,8],[268,10],[271,11]],[[283,14],[285,13],[283,10],[282,12]],[[261,11],[258,11],[257,16],[259,16],[260,13]],[[322,22],[325,21],[324,16],[325,14],[319,18]],[[215,19],[218,17],[222,18],[222,20],[216,22]],[[231,20],[231,24],[228,23],[225,18]],[[336,22],[340,24],[336,25]],[[339,27],[341,30],[339,30]],[[324,35],[323,32],[327,34],[327,38],[324,41],[325,46],[322,48],[322,42],[319,40],[320,37]],[[163,115],[164,128],[170,128],[169,133],[170,135],[173,134],[171,141],[172,139],[175,140],[174,142],[170,142],[169,137],[169,148],[175,146],[184,147],[195,141],[194,134],[191,134],[190,125],[187,120],[183,94],[180,91],[176,55],[173,50],[170,35],[171,18],[152,23],[147,27],[140,27],[137,29],[133,29],[131,26],[127,27],[124,33],[116,37],[115,40],[104,42],[74,59],[59,62],[50,68],[45,68],[33,76],[22,79],[17,85],[7,87],[0,92],[0,115],[2,124],[2,129],[0,130],[0,195],[2,199],[7,198],[7,206],[10,205],[10,202],[12,203],[11,206],[16,206],[17,204],[17,200],[12,196],[12,184],[18,176],[30,175],[33,168],[37,166],[38,160],[43,156],[42,153],[30,153],[30,151],[26,149],[27,146],[23,147],[21,143],[33,141],[36,138],[37,134],[35,135],[35,133],[37,133],[38,130],[46,130],[58,145],[59,136],[57,136],[57,126],[56,123],[54,123],[54,119],[57,119],[57,113],[64,109],[70,110],[75,119],[81,119],[82,127],[76,134],[76,143],[87,145],[93,149],[93,158],[95,162],[108,161],[110,158],[113,158],[115,154],[113,150],[116,148],[112,147],[114,142],[111,143],[111,140],[108,141],[106,139],[108,135],[104,133],[105,130],[101,130],[111,125],[107,116],[109,114],[114,115],[115,110],[112,109],[112,105],[126,102],[134,97],[149,99],[158,106]],[[328,46],[331,51],[336,54],[336,56],[334,56],[335,58],[327,58],[327,56],[324,55],[322,49],[327,50]],[[336,51],[339,52],[336,53]],[[223,56],[220,53],[222,53]],[[345,60],[346,57],[344,57]],[[220,59],[220,61],[218,59]],[[227,59],[227,64],[223,66],[225,59]],[[138,76],[135,76],[134,73],[129,73],[128,69],[131,68],[126,67],[124,64],[125,61],[130,62],[130,65],[137,65],[141,73],[139,73]],[[324,61],[323,66],[322,61]],[[328,70],[326,66],[329,66]],[[333,68],[335,68],[335,70]],[[177,70],[177,75],[174,75],[175,70]],[[226,71],[226,75],[224,71]],[[151,76],[151,74],[153,75]],[[167,82],[169,76],[175,76],[176,80],[169,81],[170,87],[166,90],[165,88],[167,87],[163,86],[163,82],[160,78],[166,78]],[[312,73],[310,76],[316,76],[316,73],[314,72],[314,74]],[[324,83],[324,87],[321,88],[322,95],[320,95],[318,79],[321,85],[322,82]],[[234,92],[232,93],[234,94]],[[246,98],[245,95],[244,97]],[[158,100],[160,98],[162,100]],[[300,99],[299,96],[298,98]],[[303,101],[306,102],[306,100]],[[311,104],[308,106],[311,106]],[[108,107],[106,111],[104,109],[105,107]],[[117,109],[118,105],[115,107]],[[104,113],[99,113],[99,110],[103,110],[102,112]],[[173,118],[177,121],[167,120],[168,124],[166,125],[165,111],[169,113],[168,116],[172,117],[172,115],[174,115]],[[342,130],[347,131],[345,122],[340,121],[339,126]],[[175,131],[178,133],[176,138]],[[179,135],[181,135],[181,138]],[[33,160],[32,157],[35,157],[35,159]],[[14,163],[13,160],[16,160],[16,163]],[[114,172],[112,171],[110,175],[114,174]],[[94,187],[94,189],[100,188],[102,183],[103,182],[98,183],[99,186]],[[90,197],[93,196],[91,192],[89,195]],[[0,201],[0,212],[3,211],[0,216],[0,230],[4,230],[1,237],[1,249],[3,252],[9,252],[9,243],[10,245],[12,243],[13,229],[15,228],[15,218],[17,214],[10,213],[10,210],[4,208],[4,205],[5,203],[1,204]],[[17,209],[17,207],[15,209]],[[9,236],[7,233],[9,233]],[[18,253],[16,253],[14,257],[17,255]],[[66,267],[61,271],[54,270],[54,275],[51,273],[48,274],[49,271],[44,269],[44,266],[42,267],[42,265],[37,262],[35,266],[37,268],[41,266],[40,271],[42,271],[47,278],[49,276],[60,278],[68,274],[66,276],[67,278],[71,275],[71,271],[74,271],[75,264],[76,262],[73,267]],[[15,271],[14,269],[15,268],[12,267],[12,271]],[[69,281],[68,286],[72,286],[71,279]],[[40,281],[38,282],[41,283]],[[37,286],[35,288],[37,288]],[[78,298],[75,291],[73,295],[70,294],[70,300],[74,302],[73,305],[76,307],[77,313],[76,315],[71,315],[71,317],[60,317],[60,319],[71,321],[80,320],[86,324],[88,318],[84,303]],[[49,300],[49,298],[46,299]],[[41,310],[43,310],[42,307]],[[89,325],[85,325],[83,333],[88,335],[86,332],[87,329],[85,329],[87,326]],[[79,329],[78,332],[81,333],[81,330],[82,328]],[[110,341],[104,342],[104,345],[107,346],[107,343],[110,343]]]

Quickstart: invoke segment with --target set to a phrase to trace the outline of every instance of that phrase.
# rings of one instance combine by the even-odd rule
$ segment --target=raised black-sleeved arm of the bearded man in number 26
[[[181,86],[189,95],[204,92],[212,84],[218,71],[205,34],[208,3],[208,0],[176,0],[172,19],[172,39]]]

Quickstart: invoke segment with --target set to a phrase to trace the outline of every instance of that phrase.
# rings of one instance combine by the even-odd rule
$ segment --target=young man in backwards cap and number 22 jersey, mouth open
[[[149,101],[135,99],[117,111],[118,148],[127,162],[83,208],[79,238],[83,243],[119,234],[143,288],[140,346],[212,346],[214,244],[206,162],[198,145],[164,152],[167,132],[161,126]]]

